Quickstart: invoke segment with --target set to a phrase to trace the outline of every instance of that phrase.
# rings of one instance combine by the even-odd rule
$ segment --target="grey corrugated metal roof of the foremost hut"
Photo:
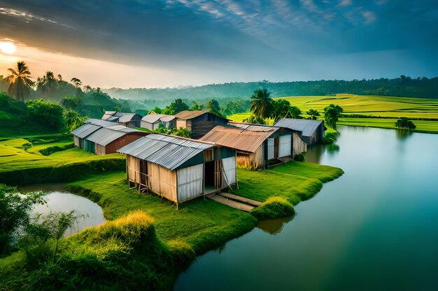
[[[169,135],[152,134],[127,144],[118,149],[118,152],[162,165],[169,170],[175,170],[190,158],[212,147],[214,144]]]

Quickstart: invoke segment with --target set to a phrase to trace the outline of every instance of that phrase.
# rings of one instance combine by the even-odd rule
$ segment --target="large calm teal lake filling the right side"
[[[307,161],[341,167],[295,207],[202,255],[175,290],[437,290],[438,135],[341,127]]]

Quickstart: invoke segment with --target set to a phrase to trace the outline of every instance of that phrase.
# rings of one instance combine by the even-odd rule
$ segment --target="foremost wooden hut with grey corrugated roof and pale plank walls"
[[[118,150],[127,181],[176,203],[236,184],[236,151],[209,142],[151,134]]]

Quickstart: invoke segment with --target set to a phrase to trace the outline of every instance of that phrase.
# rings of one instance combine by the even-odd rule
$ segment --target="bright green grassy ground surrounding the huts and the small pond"
[[[251,214],[211,200],[192,200],[176,210],[173,203],[157,195],[139,194],[127,188],[126,174],[118,170],[118,164],[125,163],[125,158],[120,156],[94,156],[80,149],[65,149],[43,156],[31,148],[24,149],[22,142],[2,142],[2,182],[13,185],[54,180],[69,182],[69,191],[97,202],[110,221],[108,223],[113,222],[118,227],[115,227],[111,241],[102,241],[99,227],[63,239],[59,251],[61,259],[55,265],[29,269],[21,253],[0,260],[1,288],[47,290],[73,285],[83,288],[111,286],[113,290],[127,286],[170,290],[176,276],[196,255],[222,246],[257,224]],[[50,146],[50,142],[47,145]],[[110,163],[113,167],[102,170],[101,163]],[[297,204],[318,193],[322,181],[342,173],[335,167],[297,162],[269,171],[239,169],[239,189],[233,190],[237,195],[260,202],[271,196],[281,196],[291,204]],[[141,211],[141,214],[133,218],[129,216],[133,211]],[[148,217],[148,225],[139,224],[138,217]],[[109,226],[102,227],[105,232],[111,230]],[[118,232],[130,232],[129,227],[148,230],[149,239],[141,237],[141,232],[138,236],[132,234],[134,237],[118,236]],[[90,269],[94,270],[92,274]]]

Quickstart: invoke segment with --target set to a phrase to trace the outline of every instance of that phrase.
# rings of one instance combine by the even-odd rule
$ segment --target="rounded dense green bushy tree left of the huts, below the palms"
[[[26,103],[25,117],[30,122],[38,122],[50,128],[61,129],[64,127],[64,118],[61,106],[43,99],[31,100]]]

